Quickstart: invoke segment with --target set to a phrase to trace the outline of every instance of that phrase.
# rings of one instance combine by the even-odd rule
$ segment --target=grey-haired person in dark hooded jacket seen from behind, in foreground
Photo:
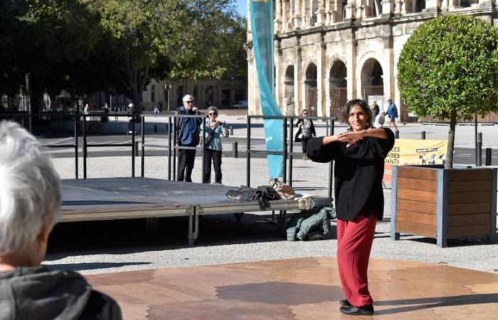
[[[60,216],[59,176],[14,122],[0,122],[0,181],[0,320],[122,319],[77,272],[40,265]]]

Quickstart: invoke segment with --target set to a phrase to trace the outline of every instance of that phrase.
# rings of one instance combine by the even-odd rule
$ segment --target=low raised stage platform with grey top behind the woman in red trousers
[[[155,178],[67,179],[61,186],[60,222],[185,216],[189,218],[187,238],[193,245],[200,215],[262,211],[255,201],[227,198],[227,191],[235,188]],[[330,198],[297,194],[294,200],[270,201],[268,210],[306,210],[331,203]]]

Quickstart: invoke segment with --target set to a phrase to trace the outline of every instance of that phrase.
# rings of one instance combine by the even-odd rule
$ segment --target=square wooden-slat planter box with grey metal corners
[[[393,166],[391,239],[486,236],[496,241],[497,169]]]

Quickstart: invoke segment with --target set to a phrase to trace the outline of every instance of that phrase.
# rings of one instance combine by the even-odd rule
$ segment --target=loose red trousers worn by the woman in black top
[[[354,306],[373,302],[367,270],[377,223],[376,215],[355,220],[337,220],[337,263],[344,297]]]

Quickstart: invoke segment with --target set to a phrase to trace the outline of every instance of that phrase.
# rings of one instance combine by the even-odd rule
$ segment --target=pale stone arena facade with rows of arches
[[[392,99],[410,120],[396,83],[404,43],[420,23],[470,14],[498,26],[496,0],[274,0],[275,98],[283,114],[337,116],[347,100]],[[249,23],[250,25],[250,23]],[[249,48],[251,33],[248,30]],[[248,50],[249,114],[260,114]],[[484,121],[498,122],[497,114]]]

